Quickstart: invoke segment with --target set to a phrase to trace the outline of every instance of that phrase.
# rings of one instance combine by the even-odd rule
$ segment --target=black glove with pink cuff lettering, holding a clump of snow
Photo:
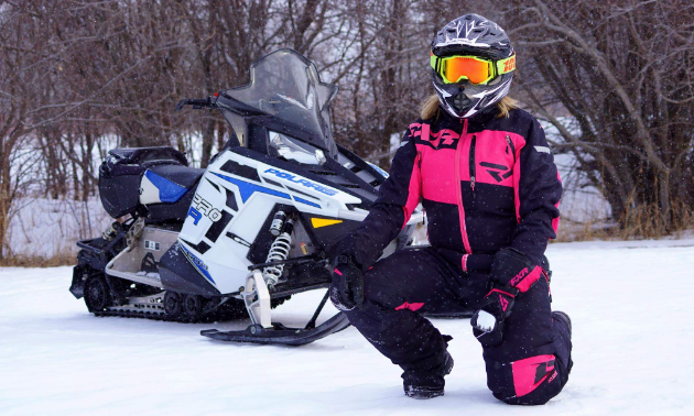
[[[511,315],[516,297],[528,292],[545,275],[539,265],[516,249],[500,250],[494,256],[489,293],[470,319],[473,332],[482,346],[496,346],[503,339],[503,320]]]

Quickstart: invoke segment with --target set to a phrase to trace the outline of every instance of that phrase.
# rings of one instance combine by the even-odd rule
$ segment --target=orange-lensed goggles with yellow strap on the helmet
[[[473,84],[485,85],[498,75],[508,74],[516,69],[516,54],[506,59],[491,61],[478,56],[462,55],[438,57],[432,53],[431,64],[445,84],[455,84],[467,79]]]

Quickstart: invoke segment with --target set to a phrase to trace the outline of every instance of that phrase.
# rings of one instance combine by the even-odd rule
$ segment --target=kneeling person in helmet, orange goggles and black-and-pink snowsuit
[[[330,299],[403,369],[414,398],[444,394],[453,369],[422,314],[477,310],[487,385],[508,404],[556,396],[572,368],[571,320],[550,307],[544,251],[562,184],[542,128],[506,97],[516,53],[495,22],[466,14],[436,33],[436,96],[404,133],[361,227],[335,248]],[[383,248],[422,201],[431,247]]]

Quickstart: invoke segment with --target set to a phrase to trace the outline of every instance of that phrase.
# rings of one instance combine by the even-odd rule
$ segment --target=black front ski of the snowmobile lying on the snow
[[[272,324],[272,328],[263,328],[261,325],[253,324],[241,331],[205,329],[200,331],[200,335],[221,341],[299,347],[339,332],[347,327],[349,327],[347,316],[339,313],[315,328],[308,328],[308,326],[307,328],[286,328],[282,324]]]

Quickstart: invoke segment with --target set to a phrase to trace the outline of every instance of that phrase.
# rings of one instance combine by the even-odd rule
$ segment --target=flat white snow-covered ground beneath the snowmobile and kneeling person
[[[455,338],[455,368],[444,397],[420,402],[354,328],[279,348],[198,335],[214,325],[95,318],[58,267],[0,269],[0,414],[694,414],[694,239],[552,244],[549,255],[554,307],[574,320],[575,366],[543,407],[489,394],[467,320],[435,321]],[[321,296],[296,296],[278,318],[307,319]]]

